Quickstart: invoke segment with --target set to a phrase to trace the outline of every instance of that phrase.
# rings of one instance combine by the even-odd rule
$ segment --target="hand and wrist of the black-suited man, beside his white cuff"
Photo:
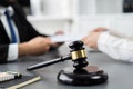
[[[44,37],[35,37],[19,44],[19,56],[38,56],[48,52],[51,41]]]

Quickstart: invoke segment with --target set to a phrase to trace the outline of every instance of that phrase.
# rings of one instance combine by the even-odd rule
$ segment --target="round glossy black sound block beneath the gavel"
[[[94,86],[108,80],[108,73],[95,66],[88,66],[83,69],[64,68],[58,75],[58,80],[71,86]]]

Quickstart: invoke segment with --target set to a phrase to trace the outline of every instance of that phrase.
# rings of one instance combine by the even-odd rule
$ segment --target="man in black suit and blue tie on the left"
[[[38,56],[59,47],[47,34],[40,34],[27,20],[16,0],[0,0],[0,63],[22,56]]]

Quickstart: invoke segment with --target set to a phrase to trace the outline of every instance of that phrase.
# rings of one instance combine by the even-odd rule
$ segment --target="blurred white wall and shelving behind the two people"
[[[96,27],[119,31],[133,28],[133,0],[19,0],[19,3],[42,33],[64,30],[86,34]]]

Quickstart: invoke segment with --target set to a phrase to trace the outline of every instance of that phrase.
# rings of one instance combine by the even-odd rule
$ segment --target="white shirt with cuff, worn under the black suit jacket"
[[[13,14],[13,9],[12,7],[8,7],[7,8],[9,11],[10,11],[10,14],[12,16]],[[7,21],[7,18],[4,16],[4,8],[2,8],[1,10],[1,21],[2,21],[2,24],[6,29],[6,32],[9,37],[9,39],[11,40],[11,32],[10,32],[10,28],[9,28],[9,24],[8,24],[8,21]],[[17,42],[19,43],[19,33],[18,33],[18,28],[16,27],[16,23],[13,22],[13,20],[11,20],[12,22],[12,26],[13,26],[13,29],[14,29],[14,33],[16,33],[16,37],[17,37]],[[9,44],[9,50],[8,50],[8,61],[14,61],[17,60],[18,58],[18,53],[19,53],[19,49],[18,49],[18,43],[10,43]]]

